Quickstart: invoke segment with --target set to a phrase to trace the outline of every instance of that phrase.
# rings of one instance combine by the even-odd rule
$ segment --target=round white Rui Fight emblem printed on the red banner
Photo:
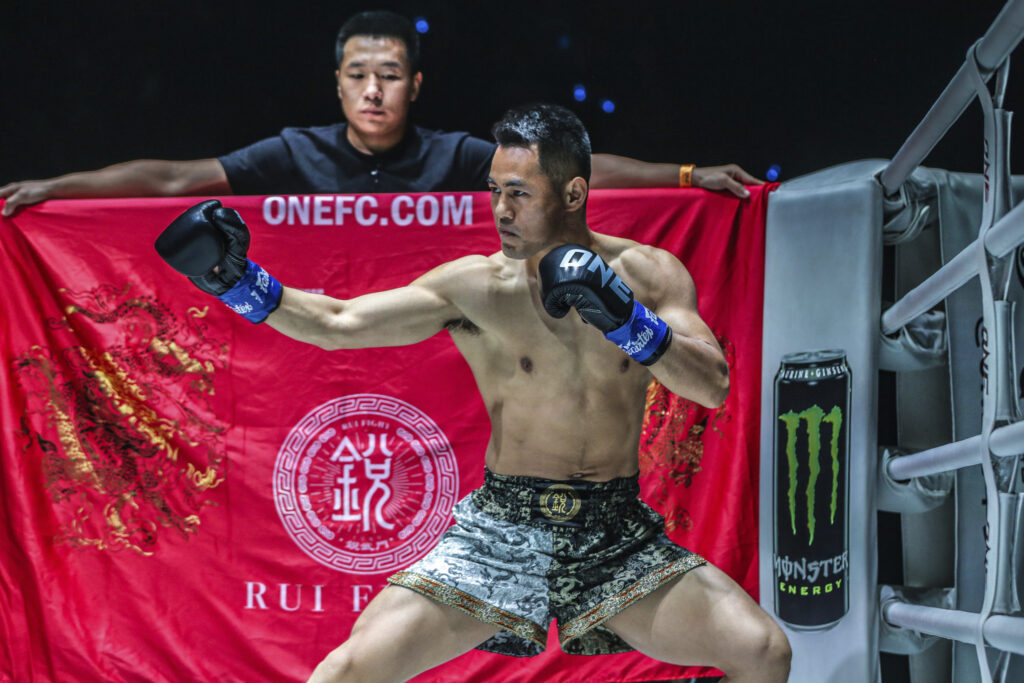
[[[427,553],[459,493],[444,432],[392,396],[351,394],[318,405],[288,434],[273,468],[285,529],[339,571],[383,573]]]

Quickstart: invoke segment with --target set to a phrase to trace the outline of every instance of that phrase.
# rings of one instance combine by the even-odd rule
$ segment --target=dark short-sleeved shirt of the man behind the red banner
[[[285,128],[219,158],[236,195],[485,191],[495,144],[410,127],[395,147],[365,155],[347,124]]]

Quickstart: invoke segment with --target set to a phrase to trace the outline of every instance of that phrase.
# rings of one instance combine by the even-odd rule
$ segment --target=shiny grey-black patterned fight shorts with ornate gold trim
[[[601,626],[705,563],[665,535],[638,478],[555,481],[485,471],[426,557],[388,581],[501,627],[479,649],[532,656],[548,625],[569,654],[633,648]]]

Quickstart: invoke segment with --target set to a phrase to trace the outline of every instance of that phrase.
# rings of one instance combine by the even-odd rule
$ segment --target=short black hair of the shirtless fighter
[[[514,106],[490,134],[505,147],[537,145],[541,170],[553,187],[575,176],[590,182],[590,135],[575,114],[557,104]]]

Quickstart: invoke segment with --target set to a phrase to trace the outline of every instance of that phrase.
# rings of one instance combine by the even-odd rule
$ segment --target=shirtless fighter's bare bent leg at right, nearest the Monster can
[[[711,666],[729,681],[785,681],[785,634],[734,581],[711,564],[662,587],[606,627],[650,657]]]

